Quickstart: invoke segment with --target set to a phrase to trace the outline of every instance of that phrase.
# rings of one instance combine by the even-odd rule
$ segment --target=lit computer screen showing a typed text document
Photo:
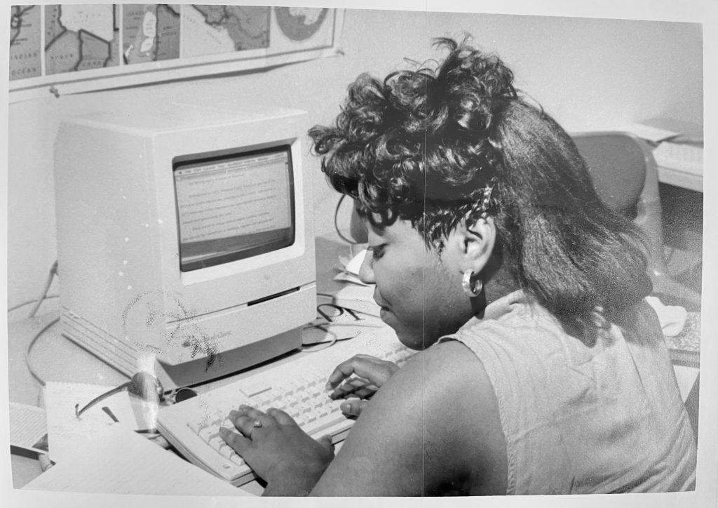
[[[294,243],[289,145],[173,162],[180,269],[246,259]]]

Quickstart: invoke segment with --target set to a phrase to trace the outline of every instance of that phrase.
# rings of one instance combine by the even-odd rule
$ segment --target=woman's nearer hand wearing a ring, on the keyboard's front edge
[[[267,482],[265,496],[305,496],[334,458],[332,438],[314,440],[286,412],[242,405],[229,414],[241,434],[220,435]]]

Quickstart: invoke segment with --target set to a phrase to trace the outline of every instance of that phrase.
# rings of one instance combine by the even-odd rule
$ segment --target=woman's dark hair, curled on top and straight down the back
[[[439,39],[435,69],[360,75],[334,126],[309,135],[322,171],[375,226],[401,218],[439,251],[462,220],[495,219],[519,287],[593,335],[652,290],[645,240],[598,197],[569,135],[499,57]],[[623,321],[625,319],[622,319]]]

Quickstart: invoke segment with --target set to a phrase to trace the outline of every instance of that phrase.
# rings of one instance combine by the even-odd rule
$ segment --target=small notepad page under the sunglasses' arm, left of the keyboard
[[[113,387],[101,387],[95,384],[77,384],[47,382],[45,385],[45,410],[47,411],[47,440],[50,445],[50,458],[61,463],[79,453],[85,453],[88,440],[103,433],[115,423],[107,410],[114,415],[120,425],[130,430],[138,428],[129,394],[120,392],[90,407],[78,419],[75,416],[75,404],[82,408],[100,394]]]

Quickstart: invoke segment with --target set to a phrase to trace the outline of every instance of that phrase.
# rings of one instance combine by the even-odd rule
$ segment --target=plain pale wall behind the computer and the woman
[[[266,102],[332,121],[358,73],[386,75],[404,57],[438,57],[430,37],[474,35],[499,53],[518,88],[569,131],[611,129],[653,116],[703,121],[701,26],[666,22],[349,10],[345,55],[258,73],[48,97],[9,106],[8,304],[37,297],[55,260],[52,144],[63,114],[107,101]],[[331,231],[337,197],[313,161],[317,234]],[[342,226],[346,221],[342,218]],[[60,267],[60,271],[62,268]],[[57,283],[55,283],[56,285]],[[53,287],[54,291],[56,287]]]

